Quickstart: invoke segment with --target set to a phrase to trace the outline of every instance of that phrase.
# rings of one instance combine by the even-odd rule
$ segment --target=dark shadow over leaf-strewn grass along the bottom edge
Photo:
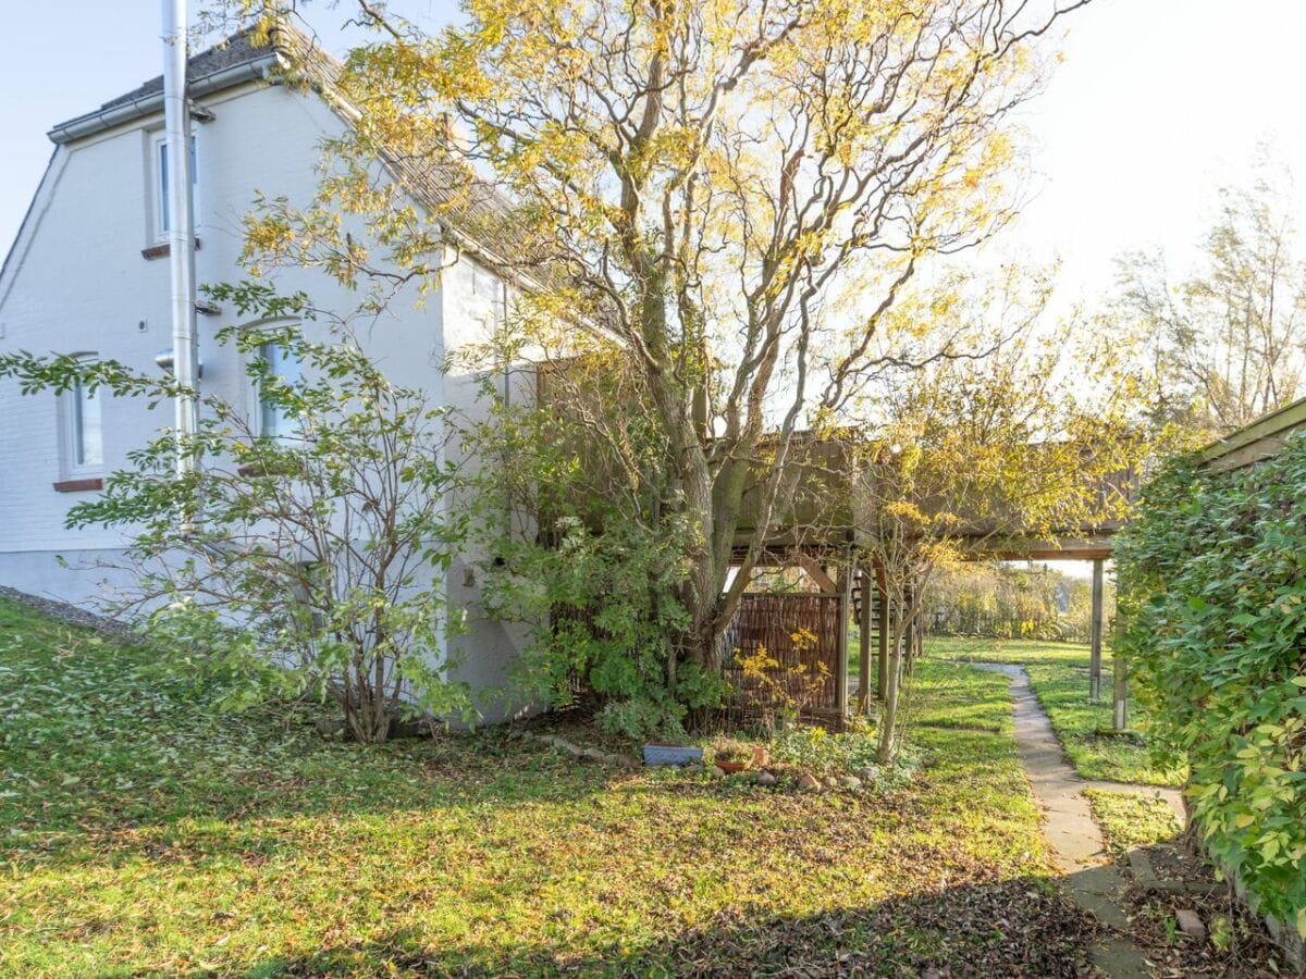
[[[234,966],[257,976],[658,975],[658,976],[1081,976],[1092,919],[1041,878],[964,885],[868,907],[782,916],[725,909],[710,922],[643,946],[584,949],[559,929],[545,945],[432,942],[413,929],[363,944]],[[584,949],[584,950],[582,950]]]

